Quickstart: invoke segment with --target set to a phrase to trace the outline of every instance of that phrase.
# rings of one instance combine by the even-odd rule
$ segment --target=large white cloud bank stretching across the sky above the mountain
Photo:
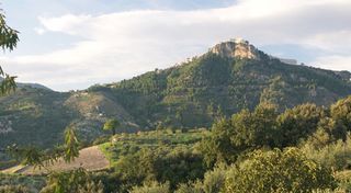
[[[43,31],[38,33],[63,33],[83,41],[48,54],[5,59],[20,80],[67,90],[84,80],[87,87],[91,80],[116,81],[169,67],[206,52],[219,41],[240,36],[259,46],[296,44],[319,48],[329,56],[339,56],[320,57],[318,63],[337,64],[320,67],[351,70],[351,65],[343,63],[351,49],[350,18],[349,0],[240,0],[228,8],[196,11],[39,16]]]

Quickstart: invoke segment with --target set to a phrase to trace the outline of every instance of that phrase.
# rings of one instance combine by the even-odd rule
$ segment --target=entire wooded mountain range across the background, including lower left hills
[[[77,92],[23,87],[0,98],[0,147],[11,143],[49,147],[67,125],[91,140],[117,117],[127,132],[210,126],[260,101],[280,110],[305,102],[328,105],[351,94],[351,73],[280,59],[247,41],[230,39],[168,69]]]

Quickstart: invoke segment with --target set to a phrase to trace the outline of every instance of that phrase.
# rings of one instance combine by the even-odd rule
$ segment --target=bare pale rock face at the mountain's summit
[[[219,43],[211,48],[210,52],[222,57],[259,59],[258,49],[249,44],[248,41],[241,38],[234,38],[228,42]]]

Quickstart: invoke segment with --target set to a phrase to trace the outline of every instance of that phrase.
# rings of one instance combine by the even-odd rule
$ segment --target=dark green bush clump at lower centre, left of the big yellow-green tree
[[[134,184],[150,180],[168,181],[172,190],[179,183],[203,178],[205,172],[202,156],[186,148],[145,148],[121,158],[115,169],[124,181]]]

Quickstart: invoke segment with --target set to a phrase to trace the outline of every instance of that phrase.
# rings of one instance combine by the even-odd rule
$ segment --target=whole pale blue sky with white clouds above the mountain
[[[21,32],[0,56],[19,81],[55,90],[167,68],[242,37],[268,54],[351,70],[350,0],[4,0]]]

